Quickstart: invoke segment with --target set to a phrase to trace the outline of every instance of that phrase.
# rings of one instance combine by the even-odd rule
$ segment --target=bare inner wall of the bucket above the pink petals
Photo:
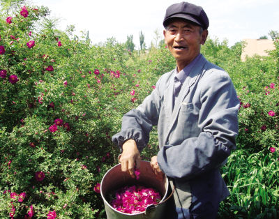
[[[115,190],[124,186],[144,186],[156,189],[160,193],[162,198],[160,202],[162,202],[167,195],[168,183],[167,177],[164,177],[162,181],[156,178],[149,161],[141,160],[140,179],[133,179],[127,172],[121,171],[121,164],[116,165],[103,176],[100,193],[104,202],[110,206],[110,195]],[[112,206],[110,207],[112,208]]]

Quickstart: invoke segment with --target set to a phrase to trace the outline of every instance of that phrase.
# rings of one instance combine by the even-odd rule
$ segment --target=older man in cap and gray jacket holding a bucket
[[[123,116],[121,132],[112,140],[122,151],[122,171],[135,177],[140,151],[152,126],[158,126],[160,151],[151,166],[175,186],[176,212],[169,218],[216,218],[229,195],[219,167],[236,146],[239,100],[225,70],[200,54],[209,27],[201,7],[175,3],[163,25],[176,69],[161,76],[143,103]]]

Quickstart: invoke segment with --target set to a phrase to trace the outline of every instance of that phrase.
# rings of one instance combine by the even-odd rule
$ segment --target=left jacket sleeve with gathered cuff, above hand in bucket
[[[156,83],[156,88],[144,99],[142,104],[123,115],[121,131],[112,136],[112,142],[119,146],[121,152],[122,145],[127,139],[134,139],[139,151],[142,151],[149,142],[152,126],[156,126],[158,123],[161,78]]]

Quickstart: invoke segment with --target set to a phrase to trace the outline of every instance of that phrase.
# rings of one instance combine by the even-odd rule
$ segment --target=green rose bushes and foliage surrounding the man
[[[128,51],[114,38],[91,45],[88,33],[73,36],[73,26],[55,29],[58,21],[45,7],[26,5],[28,16],[22,16],[22,3],[1,1],[0,216],[24,218],[32,206],[35,218],[50,211],[59,218],[105,218],[98,183],[118,163],[111,137],[123,114],[176,63],[158,36],[149,52]],[[279,50],[273,36],[269,57],[245,62],[242,42],[229,48],[209,38],[202,47],[227,70],[242,103],[238,149],[222,169],[232,195],[221,204],[220,218],[278,217]],[[132,45],[133,37],[128,40]],[[142,158],[157,152],[154,127]]]

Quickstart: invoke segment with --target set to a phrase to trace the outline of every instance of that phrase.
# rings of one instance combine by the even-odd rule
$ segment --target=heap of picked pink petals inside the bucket
[[[140,213],[151,204],[160,202],[160,194],[153,188],[144,186],[125,186],[116,190],[115,199],[110,203],[114,209],[123,213]]]

